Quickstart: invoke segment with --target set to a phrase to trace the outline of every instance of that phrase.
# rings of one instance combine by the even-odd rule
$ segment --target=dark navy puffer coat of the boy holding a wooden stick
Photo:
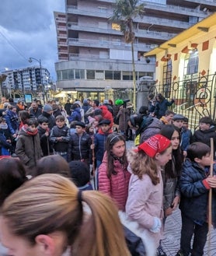
[[[214,164],[214,175],[216,166]],[[179,209],[190,219],[207,222],[207,205],[209,190],[202,181],[208,176],[197,163],[186,159],[183,163],[182,175],[179,178],[181,200]],[[213,203],[216,200],[216,191],[213,189]],[[213,216],[213,215],[212,215]],[[215,209],[214,209],[215,219]]]

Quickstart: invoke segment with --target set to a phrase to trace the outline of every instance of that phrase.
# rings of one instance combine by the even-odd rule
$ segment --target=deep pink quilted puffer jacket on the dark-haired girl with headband
[[[117,203],[118,209],[125,211],[125,205],[128,195],[128,184],[131,174],[127,171],[127,164],[122,164],[118,160],[113,162],[116,175],[107,177],[107,154],[104,153],[103,161],[99,166],[99,191],[110,195],[113,201]]]

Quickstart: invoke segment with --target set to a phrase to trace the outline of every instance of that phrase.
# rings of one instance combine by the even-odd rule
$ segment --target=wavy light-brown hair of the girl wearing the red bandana
[[[148,174],[152,180],[152,184],[159,184],[158,168],[155,159],[146,155],[144,151],[134,151],[131,149],[127,152],[127,160],[130,163],[133,174],[138,175],[141,180],[143,174]]]

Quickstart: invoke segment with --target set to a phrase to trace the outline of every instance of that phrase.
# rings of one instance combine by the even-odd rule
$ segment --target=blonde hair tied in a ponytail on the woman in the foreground
[[[86,218],[82,202],[91,210]],[[112,200],[99,191],[81,194],[75,184],[58,174],[42,174],[23,184],[5,200],[2,216],[14,235],[31,244],[39,234],[62,231],[72,255],[130,255]]]

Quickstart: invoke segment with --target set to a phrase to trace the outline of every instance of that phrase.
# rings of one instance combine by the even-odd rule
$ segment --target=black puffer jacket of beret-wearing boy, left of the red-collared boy
[[[91,137],[84,132],[79,136],[76,132],[71,135],[70,142],[68,144],[68,162],[72,160],[83,160],[89,159],[89,162],[92,163],[92,145]]]

